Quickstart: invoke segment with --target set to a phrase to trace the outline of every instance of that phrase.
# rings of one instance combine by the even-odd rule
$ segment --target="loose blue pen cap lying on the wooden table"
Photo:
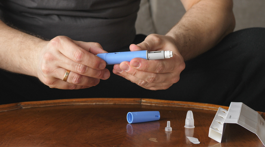
[[[139,111],[139,112],[128,112],[127,113],[128,123],[157,121],[159,119],[160,119],[159,111]]]

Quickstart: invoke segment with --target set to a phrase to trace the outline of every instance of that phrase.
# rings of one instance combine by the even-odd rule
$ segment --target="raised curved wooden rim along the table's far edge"
[[[85,105],[85,104],[138,104],[138,105],[153,105],[153,106],[170,106],[170,107],[185,107],[217,111],[219,107],[228,110],[228,106],[220,106],[208,103],[186,102],[186,101],[169,101],[150,98],[75,98],[75,99],[58,99],[47,101],[29,101],[11,104],[0,105],[0,112],[11,111],[23,108],[60,106],[60,105]],[[264,112],[259,114],[265,118]]]

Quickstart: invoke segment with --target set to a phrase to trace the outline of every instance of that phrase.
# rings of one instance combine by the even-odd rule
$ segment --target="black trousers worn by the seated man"
[[[135,43],[145,37],[138,36]],[[229,106],[243,102],[265,112],[265,28],[233,32],[217,46],[186,61],[180,80],[151,91],[112,73],[97,86],[80,90],[49,88],[37,78],[0,72],[0,104],[65,98],[155,98]]]

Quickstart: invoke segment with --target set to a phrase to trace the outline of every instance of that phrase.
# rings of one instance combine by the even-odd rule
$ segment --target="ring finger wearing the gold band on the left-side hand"
[[[57,72],[55,72],[56,74],[54,75],[54,77],[63,80],[66,71],[66,69],[59,68],[57,69]],[[66,82],[81,86],[96,86],[100,82],[100,79],[83,76],[81,74],[70,71]]]

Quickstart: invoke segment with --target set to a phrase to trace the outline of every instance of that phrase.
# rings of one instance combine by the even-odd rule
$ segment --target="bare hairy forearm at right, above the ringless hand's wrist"
[[[215,46],[235,27],[232,1],[182,1],[186,13],[166,36],[173,37],[184,60],[192,59]],[[192,6],[191,6],[192,5]]]

